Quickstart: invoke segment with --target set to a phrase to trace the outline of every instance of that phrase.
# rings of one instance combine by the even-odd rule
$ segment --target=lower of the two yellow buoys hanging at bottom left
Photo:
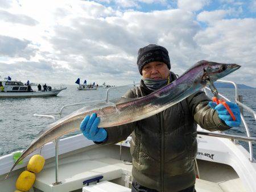
[[[20,191],[28,191],[33,186],[35,182],[35,173],[28,172],[24,170],[22,172],[17,181],[16,181],[16,189]]]

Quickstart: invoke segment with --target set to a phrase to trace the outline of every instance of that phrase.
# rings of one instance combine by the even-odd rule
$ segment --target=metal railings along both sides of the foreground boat
[[[245,108],[247,111],[253,113],[254,118],[256,120],[256,113],[255,113],[255,111],[239,101],[237,84],[232,82],[232,81],[221,81],[221,80],[218,80],[218,82],[224,82],[224,83],[233,84],[234,87],[235,87],[235,91],[236,91],[236,103],[239,106]],[[57,115],[57,116],[59,116],[59,118],[61,118],[63,116],[64,109],[67,108],[67,107],[79,106],[79,105],[83,105],[83,106],[84,105],[90,105],[90,104],[95,103],[95,102],[106,102],[106,103],[108,103],[109,102],[109,92],[110,92],[110,90],[117,89],[117,88],[120,88],[120,87],[125,87],[125,86],[128,86],[128,87],[130,86],[131,87],[131,86],[135,86],[135,84],[109,87],[106,90],[106,98],[102,99],[102,100],[87,101],[87,102],[80,102],[80,103],[72,103],[72,104],[64,105],[63,107],[61,107],[60,111],[57,111],[57,112],[47,112],[47,113],[43,113],[43,114],[34,114],[34,116],[41,116],[41,117],[44,117],[44,118],[56,119],[54,115]],[[209,88],[208,87],[204,88],[206,94],[207,94],[207,91],[206,91],[207,89],[209,89]],[[228,98],[224,97],[224,95],[220,94],[220,96],[222,98],[226,99],[226,101],[230,101]],[[246,135],[247,135],[246,137],[245,136],[238,136],[238,135],[223,134],[223,133],[204,132],[204,131],[197,131],[197,133],[199,135],[208,135],[208,136],[214,136],[214,137],[222,137],[222,138],[226,138],[226,139],[232,139],[234,141],[235,140],[248,141],[248,143],[249,143],[249,152],[250,152],[249,160],[251,162],[255,162],[254,158],[253,158],[253,147],[252,147],[251,142],[256,142],[256,139],[255,139],[255,137],[251,137],[250,136],[249,127],[248,127],[247,123],[245,122],[245,118],[243,117],[242,114],[241,114],[241,119],[242,119],[242,122],[243,122],[243,124],[245,126],[245,129],[246,129]],[[55,180],[56,181],[55,181],[55,183],[53,183],[53,185],[58,185],[58,184],[61,183],[58,180],[58,165],[59,165],[58,151],[59,151],[58,139],[56,139],[55,140]]]

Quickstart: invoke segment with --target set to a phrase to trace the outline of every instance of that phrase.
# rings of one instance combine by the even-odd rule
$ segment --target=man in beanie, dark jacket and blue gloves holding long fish
[[[176,79],[166,48],[147,45],[139,49],[141,85],[124,97],[138,98],[152,93]],[[197,154],[196,129],[224,131],[240,125],[239,107],[227,102],[236,121],[225,107],[210,102],[203,91],[150,118],[122,126],[98,128],[96,114],[86,116],[80,128],[96,144],[114,144],[132,136],[133,186],[131,191],[195,191],[194,160]]]

